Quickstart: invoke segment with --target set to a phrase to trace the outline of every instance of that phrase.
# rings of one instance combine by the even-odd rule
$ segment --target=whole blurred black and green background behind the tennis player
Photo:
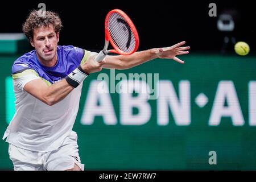
[[[99,52],[105,15],[121,9],[137,27],[139,51],[183,40],[191,46],[189,55],[179,56],[185,64],[155,59],[125,71],[102,71],[112,80],[118,73],[158,74],[156,100],[111,93],[104,95],[106,102],[95,96],[98,73],[86,79],[73,129],[85,169],[256,169],[256,12],[244,1],[5,2],[0,7],[1,135],[15,112],[11,66],[32,50],[22,23],[42,2],[63,22],[59,45]],[[250,46],[246,56],[234,51],[240,41]],[[0,147],[0,169],[12,170],[8,144],[2,140]]]

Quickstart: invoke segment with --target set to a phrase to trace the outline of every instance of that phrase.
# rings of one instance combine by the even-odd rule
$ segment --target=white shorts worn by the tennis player
[[[9,155],[15,171],[64,171],[77,164],[84,171],[77,146],[77,134],[72,131],[54,151],[36,152],[9,144]]]

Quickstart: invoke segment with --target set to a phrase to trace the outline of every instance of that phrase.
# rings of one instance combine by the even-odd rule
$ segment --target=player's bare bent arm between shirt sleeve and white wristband
[[[24,86],[24,90],[45,104],[52,106],[63,100],[74,88],[64,79],[47,86],[43,80],[35,79]]]

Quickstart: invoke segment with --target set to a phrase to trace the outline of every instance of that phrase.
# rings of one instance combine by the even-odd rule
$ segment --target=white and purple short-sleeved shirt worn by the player
[[[90,53],[73,46],[58,46],[55,67],[40,64],[35,51],[26,53],[14,62],[12,72],[16,111],[3,136],[3,139],[7,137],[6,142],[39,152],[56,150],[61,146],[75,123],[82,83],[52,106],[44,104],[23,88],[27,82],[35,79],[42,79],[48,85],[61,81],[84,63]]]

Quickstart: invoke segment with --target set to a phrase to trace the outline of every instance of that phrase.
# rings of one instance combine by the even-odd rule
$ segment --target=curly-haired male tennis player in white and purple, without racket
[[[73,46],[57,46],[62,24],[51,11],[32,11],[23,24],[34,51],[12,67],[16,112],[3,136],[15,170],[84,170],[72,131],[79,110],[82,81],[102,68],[127,69],[155,58],[174,59],[188,53],[185,42],[129,56],[106,56]]]

